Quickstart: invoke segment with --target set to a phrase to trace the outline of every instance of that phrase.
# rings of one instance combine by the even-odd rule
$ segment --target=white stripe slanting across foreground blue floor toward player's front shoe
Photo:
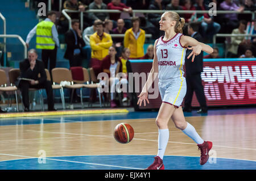
[[[13,154],[4,154],[4,153],[0,153],[0,155],[8,155],[8,156],[13,156],[13,157],[24,157],[24,158],[36,158],[36,159],[38,159],[37,157],[27,157],[27,156],[23,156],[23,155],[13,155]],[[88,164],[88,165],[100,165],[100,166],[108,166],[108,167],[118,167],[118,168],[123,168],[123,169],[144,170],[144,169],[133,168],[133,167],[122,167],[122,166],[105,165],[105,164],[99,164],[99,163],[77,162],[77,161],[68,161],[68,160],[63,160],[63,159],[52,159],[52,158],[45,158],[45,159],[53,160],[53,161],[61,161],[61,162],[82,163],[82,164]],[[0,162],[3,162],[3,161],[0,161]]]

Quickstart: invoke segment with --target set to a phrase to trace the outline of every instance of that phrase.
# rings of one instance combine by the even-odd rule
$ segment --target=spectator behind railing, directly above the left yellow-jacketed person
[[[102,2],[102,0],[94,0],[89,5],[89,10],[106,10],[106,9],[108,9],[108,7],[105,3]],[[102,22],[105,19],[109,19],[108,12],[90,12],[90,16],[92,17],[93,20],[100,19],[102,20]]]

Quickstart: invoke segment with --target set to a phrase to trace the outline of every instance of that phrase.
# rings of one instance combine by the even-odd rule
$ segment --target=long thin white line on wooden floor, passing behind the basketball
[[[92,137],[105,137],[105,138],[113,138],[113,136],[102,136],[102,135],[93,135],[93,134],[79,134],[79,133],[64,133],[64,132],[47,132],[47,131],[35,131],[35,130],[26,130],[29,132],[44,132],[44,133],[55,133],[55,134],[71,134],[71,135],[81,135],[81,136],[92,136]],[[147,140],[142,138],[133,138],[133,140],[141,140],[141,141],[154,141],[158,142],[158,140]],[[175,142],[175,141],[168,141],[172,144],[185,144],[185,145],[195,145],[195,143],[188,143],[188,142]],[[220,146],[220,145],[213,145],[214,147],[222,147],[222,148],[230,148],[230,149],[242,149],[242,150],[256,150],[251,148],[240,148],[240,147],[233,147],[233,146]]]

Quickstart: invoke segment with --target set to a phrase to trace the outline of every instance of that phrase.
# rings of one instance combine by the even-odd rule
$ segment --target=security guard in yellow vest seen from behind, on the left
[[[59,38],[57,29],[55,26],[56,13],[49,11],[47,13],[47,18],[42,22],[38,23],[27,35],[26,44],[29,47],[29,42],[32,37],[36,34],[36,48],[42,49],[42,61],[44,62],[44,67],[48,69],[48,59],[49,72],[56,67],[57,58],[57,47],[59,47]]]

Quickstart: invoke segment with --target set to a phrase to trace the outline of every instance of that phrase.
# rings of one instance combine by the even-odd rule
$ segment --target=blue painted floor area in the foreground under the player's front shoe
[[[205,165],[200,157],[164,156],[166,170],[255,170],[255,161],[209,158]],[[44,163],[45,161],[45,163]],[[154,155],[86,155],[1,161],[1,170],[139,170],[154,161]],[[39,163],[40,162],[40,163]]]

